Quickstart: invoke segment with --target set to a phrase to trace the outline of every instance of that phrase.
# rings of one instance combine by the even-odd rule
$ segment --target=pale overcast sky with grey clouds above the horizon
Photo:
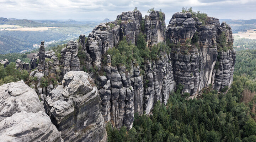
[[[256,0],[0,0],[0,17],[18,19],[114,20],[134,7],[142,12],[162,9],[166,19],[193,7],[219,19],[256,19]]]

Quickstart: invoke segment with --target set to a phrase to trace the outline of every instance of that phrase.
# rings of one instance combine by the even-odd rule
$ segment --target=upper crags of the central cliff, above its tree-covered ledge
[[[97,25],[89,34],[85,47],[84,43],[81,45],[89,53],[92,64],[100,69],[102,54],[118,45],[123,36],[126,36],[128,43],[136,44],[141,32],[146,34],[148,46],[165,42],[165,14],[152,11],[143,19],[139,10],[123,12],[115,21]],[[80,41],[84,41],[83,36],[80,36]]]

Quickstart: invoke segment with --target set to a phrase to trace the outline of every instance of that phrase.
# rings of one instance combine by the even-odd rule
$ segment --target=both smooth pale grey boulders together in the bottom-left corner
[[[0,86],[0,141],[63,141],[23,80]]]

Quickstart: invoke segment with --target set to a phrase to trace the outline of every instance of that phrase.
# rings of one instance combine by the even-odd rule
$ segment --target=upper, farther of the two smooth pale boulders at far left
[[[0,121],[16,112],[44,111],[36,92],[23,80],[0,86]]]

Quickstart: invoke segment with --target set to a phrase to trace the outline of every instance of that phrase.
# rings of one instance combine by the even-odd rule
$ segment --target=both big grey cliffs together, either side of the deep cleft
[[[164,21],[161,11],[152,11],[144,19],[138,10],[123,12],[115,21],[96,26],[86,43],[84,35],[80,36],[80,44],[87,53],[86,67],[96,66],[106,72],[90,76],[99,89],[105,121],[111,121],[117,128],[132,128],[134,113],[149,114],[157,101],[166,104],[176,84],[184,86],[182,93],[196,95],[209,84],[219,91],[233,81],[235,51],[223,51],[218,41],[224,32],[226,44],[233,44],[229,25],[220,25],[214,17],[208,17],[206,25],[202,25],[191,13],[175,13],[166,29]],[[108,49],[117,46],[124,36],[128,43],[136,45],[139,33],[145,34],[149,48],[170,41],[170,53],[162,52],[156,60],[145,59],[144,69],[136,61],[131,63],[130,70],[125,66],[113,67],[110,55],[107,64],[103,64],[101,58]]]

